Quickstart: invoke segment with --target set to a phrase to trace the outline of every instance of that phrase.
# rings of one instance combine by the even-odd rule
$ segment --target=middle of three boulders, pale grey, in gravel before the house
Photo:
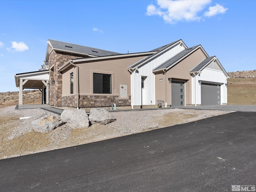
[[[89,126],[88,115],[84,109],[64,110],[60,117],[63,122],[74,129]]]

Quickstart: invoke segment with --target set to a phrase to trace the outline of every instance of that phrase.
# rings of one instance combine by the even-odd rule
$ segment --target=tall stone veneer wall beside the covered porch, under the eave
[[[49,56],[49,68],[54,65],[53,71],[50,70],[50,105],[63,106],[62,105],[62,74],[58,72],[63,64],[71,59],[86,58],[77,54],[64,53],[58,51],[52,51]],[[52,81],[55,81],[52,83]]]

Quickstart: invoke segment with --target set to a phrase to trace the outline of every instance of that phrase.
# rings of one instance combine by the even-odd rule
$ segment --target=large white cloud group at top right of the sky
[[[202,19],[202,12],[212,0],[157,0],[158,6],[150,4],[147,7],[146,15],[158,15],[165,22],[173,24],[178,21],[199,21]],[[208,15],[224,13],[227,9],[216,4],[209,8]],[[221,9],[222,8],[222,9]],[[208,16],[207,15],[207,16]]]

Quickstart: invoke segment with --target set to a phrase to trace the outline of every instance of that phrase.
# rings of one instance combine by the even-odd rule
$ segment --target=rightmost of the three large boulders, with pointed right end
[[[89,120],[92,124],[108,124],[116,119],[104,108],[92,108],[90,110]]]

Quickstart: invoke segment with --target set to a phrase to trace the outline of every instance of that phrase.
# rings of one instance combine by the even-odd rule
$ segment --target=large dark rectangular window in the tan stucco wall
[[[110,74],[93,74],[93,93],[111,93],[111,75]]]

